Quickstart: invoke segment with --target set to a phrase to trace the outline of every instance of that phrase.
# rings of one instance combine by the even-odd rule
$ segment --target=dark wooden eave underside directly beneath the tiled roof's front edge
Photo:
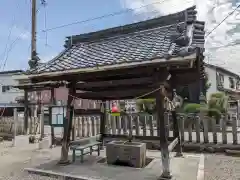
[[[171,61],[161,63],[151,63],[149,65],[139,65],[134,67],[116,68],[111,70],[97,70],[97,71],[81,71],[76,73],[54,75],[49,74],[48,76],[36,75],[31,76],[32,83],[43,82],[43,81],[106,81],[106,80],[118,80],[118,79],[129,79],[129,78],[144,78],[150,77],[156,71],[164,72],[166,70],[179,70],[179,69],[190,69],[193,66],[194,59],[186,61],[179,61],[172,64]]]

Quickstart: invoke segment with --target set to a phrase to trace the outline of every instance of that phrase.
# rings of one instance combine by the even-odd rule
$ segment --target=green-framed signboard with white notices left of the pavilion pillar
[[[52,126],[63,127],[63,121],[66,117],[66,108],[58,106],[52,107]]]

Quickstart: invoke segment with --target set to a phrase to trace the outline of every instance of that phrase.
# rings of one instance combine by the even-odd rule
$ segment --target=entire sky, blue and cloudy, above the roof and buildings
[[[197,5],[198,19],[206,22],[206,31],[213,29],[224,19],[240,0],[46,0],[47,6],[40,5],[37,14],[37,51],[46,62],[63,50],[66,36],[97,31],[109,27],[133,23],[151,17],[181,11],[193,4]],[[19,6],[18,6],[19,4]],[[2,0],[0,6],[0,67],[7,59],[5,70],[26,69],[30,57],[30,11],[31,0]],[[152,4],[152,5],[149,5]],[[141,6],[146,8],[138,9]],[[45,11],[47,29],[86,20],[124,9],[132,12],[55,29],[44,33]],[[16,17],[15,21],[13,20]],[[10,41],[9,31],[12,29]],[[206,61],[239,72],[240,61],[240,9],[221,24],[205,43]],[[46,38],[47,35],[47,38]],[[16,41],[16,39],[18,39]],[[5,46],[14,43],[6,55]],[[6,58],[8,56],[8,58]],[[240,72],[239,72],[240,73]]]

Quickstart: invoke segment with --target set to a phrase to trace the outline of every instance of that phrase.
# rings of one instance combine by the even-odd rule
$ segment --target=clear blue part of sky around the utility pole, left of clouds
[[[81,21],[124,9],[119,0],[46,1],[47,6],[44,8],[40,4],[40,0],[37,0],[39,9],[37,14],[37,50],[43,61],[50,60],[63,49],[66,36],[123,25],[131,23],[133,22],[132,20],[135,19],[135,16],[132,13],[125,13],[101,20],[55,29],[48,31],[46,35],[46,33],[42,31],[45,29],[45,11],[46,26],[47,28],[52,28],[62,24]],[[30,0],[3,0],[0,6],[0,12],[0,64],[3,64],[2,62],[5,61],[7,56],[6,53],[4,55],[6,43],[8,42],[9,47],[16,38],[20,37],[20,39],[14,43],[12,50],[8,53],[5,70],[26,69],[30,57],[31,41]],[[16,16],[15,21],[13,20],[14,16]],[[10,41],[7,41],[11,28],[12,33]]]

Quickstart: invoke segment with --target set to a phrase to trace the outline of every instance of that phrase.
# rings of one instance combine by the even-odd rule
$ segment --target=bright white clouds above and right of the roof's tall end
[[[206,32],[211,31],[236,8],[233,0],[120,0],[124,8],[137,8],[133,13],[144,18],[167,15],[197,5],[198,19],[206,22]],[[235,1],[236,2],[236,1]],[[140,6],[146,8],[139,8]],[[231,46],[234,44],[239,44]],[[220,48],[218,48],[220,47]],[[240,73],[240,9],[224,21],[206,39],[206,56],[210,63],[222,65]]]

